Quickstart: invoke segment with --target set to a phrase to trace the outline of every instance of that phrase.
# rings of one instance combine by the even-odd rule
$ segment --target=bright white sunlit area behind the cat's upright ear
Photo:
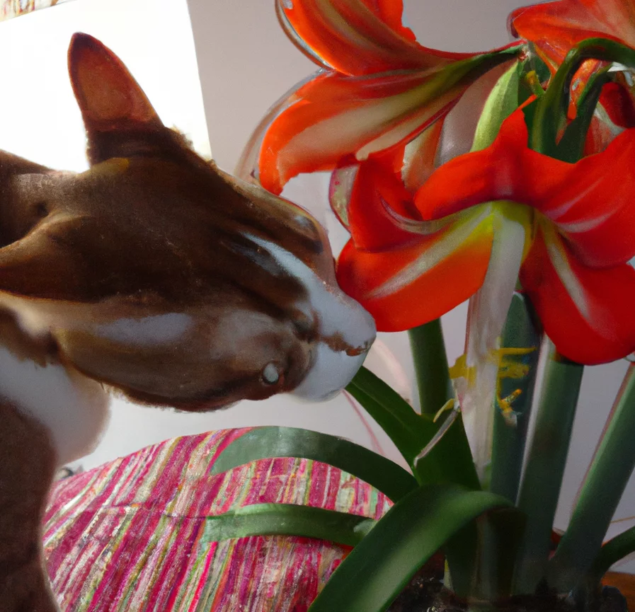
[[[88,168],[67,71],[75,32],[118,54],[161,120],[210,157],[186,0],[76,0],[0,23],[0,149],[52,168]]]

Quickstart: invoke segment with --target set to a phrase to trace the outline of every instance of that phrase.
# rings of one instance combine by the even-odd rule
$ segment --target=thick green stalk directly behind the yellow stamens
[[[534,383],[540,348],[540,334],[527,297],[515,294],[509,309],[503,348],[527,350],[525,354],[507,354],[499,369],[500,398],[510,402],[513,415],[503,415],[503,407],[495,407],[490,490],[515,503],[520,486],[522,459],[525,455]],[[516,371],[515,371],[516,370]],[[498,401],[496,401],[498,404]]]

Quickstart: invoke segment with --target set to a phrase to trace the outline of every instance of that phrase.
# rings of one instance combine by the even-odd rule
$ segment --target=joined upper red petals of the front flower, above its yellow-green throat
[[[505,120],[488,149],[439,168],[415,203],[424,219],[495,200],[527,204],[559,226],[587,265],[616,265],[635,255],[634,156],[635,129],[575,164],[539,154],[527,147],[519,110]]]

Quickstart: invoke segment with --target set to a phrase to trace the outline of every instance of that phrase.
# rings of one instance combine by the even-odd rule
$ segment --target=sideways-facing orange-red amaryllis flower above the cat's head
[[[292,40],[323,70],[279,103],[268,126],[259,178],[273,192],[299,173],[331,170],[411,141],[479,76],[520,50],[423,47],[401,24],[400,0],[278,0],[277,6]]]

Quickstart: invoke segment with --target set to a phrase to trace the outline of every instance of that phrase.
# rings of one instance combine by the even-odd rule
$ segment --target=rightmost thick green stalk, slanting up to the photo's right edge
[[[547,582],[568,592],[600,553],[602,540],[635,468],[635,366],[619,390],[568,529],[549,562]]]

